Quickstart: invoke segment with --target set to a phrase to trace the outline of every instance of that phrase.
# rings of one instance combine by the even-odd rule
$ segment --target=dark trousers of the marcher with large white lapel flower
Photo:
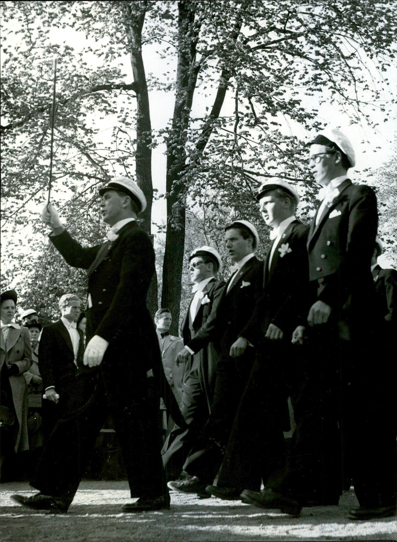
[[[287,399],[293,378],[291,350],[280,341],[264,340],[258,345],[227,442],[218,486],[258,491],[261,480],[265,483],[271,473],[282,472],[285,467],[283,431],[290,428]]]

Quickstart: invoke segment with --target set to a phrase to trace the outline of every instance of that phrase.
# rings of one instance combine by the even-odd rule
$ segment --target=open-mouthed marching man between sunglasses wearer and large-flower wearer
[[[215,325],[207,337],[219,349],[211,415],[185,461],[184,472],[178,480],[168,482],[175,491],[207,496],[205,488],[213,483],[222,462],[254,359],[253,347],[240,355],[232,345],[252,315],[256,295],[262,291],[263,262],[254,254],[258,243],[258,233],[250,222],[237,220],[225,228],[226,250],[236,267],[220,296]]]

